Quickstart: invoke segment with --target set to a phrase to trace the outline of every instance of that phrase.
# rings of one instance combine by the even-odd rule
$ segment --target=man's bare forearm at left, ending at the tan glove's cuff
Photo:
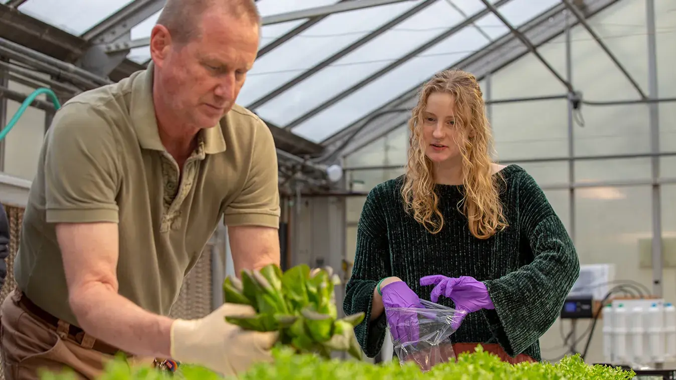
[[[103,283],[72,294],[70,305],[89,335],[129,354],[170,358],[171,318],[143,310]]]

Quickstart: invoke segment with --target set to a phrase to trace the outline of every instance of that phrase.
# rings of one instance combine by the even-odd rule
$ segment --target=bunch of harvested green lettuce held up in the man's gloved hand
[[[354,327],[364,320],[364,313],[338,319],[334,287],[340,283],[331,267],[310,271],[301,264],[282,272],[270,264],[260,271],[243,270],[241,281],[225,279],[225,302],[251,305],[256,315],[226,320],[246,330],[279,331],[279,343],[298,353],[329,358],[339,351],[361,360]]]

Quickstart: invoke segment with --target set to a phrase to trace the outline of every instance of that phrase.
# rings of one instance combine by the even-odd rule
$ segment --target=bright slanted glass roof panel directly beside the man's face
[[[253,103],[422,1],[356,9],[324,18],[256,60],[238,103]]]

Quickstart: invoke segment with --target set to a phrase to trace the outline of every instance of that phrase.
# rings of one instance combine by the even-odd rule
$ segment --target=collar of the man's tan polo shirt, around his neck
[[[153,62],[132,79],[132,94],[129,112],[136,130],[139,143],[143,149],[158,151],[166,150],[162,145],[158,133],[158,120],[155,118],[153,104]],[[220,122],[212,128],[205,128],[199,132],[200,146],[206,154],[215,154],[225,151],[225,139]],[[201,150],[201,149],[200,149]]]

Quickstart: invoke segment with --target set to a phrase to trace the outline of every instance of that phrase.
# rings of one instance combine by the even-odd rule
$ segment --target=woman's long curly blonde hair
[[[418,104],[408,120],[410,147],[401,191],[406,211],[430,233],[439,233],[443,228],[443,216],[437,207],[439,196],[434,191],[432,162],[425,155],[427,144],[423,139],[423,128],[418,127],[423,122],[423,112],[431,93],[450,93],[456,101],[456,125],[465,132],[462,141],[458,141],[463,176],[463,198],[458,202],[458,210],[468,219],[472,235],[488,239],[508,225],[498,183],[504,179],[500,172],[493,174],[493,160],[489,154],[492,137],[483,94],[477,78],[468,72],[439,72],[420,90]]]

